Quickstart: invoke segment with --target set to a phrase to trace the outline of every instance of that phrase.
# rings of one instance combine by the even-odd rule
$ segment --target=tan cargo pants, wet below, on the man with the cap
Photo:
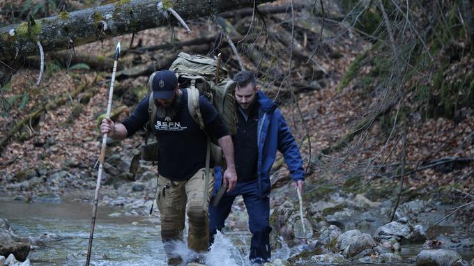
[[[206,251],[209,237],[209,200],[214,188],[214,171],[208,180],[208,193],[204,195],[206,169],[200,169],[187,181],[171,181],[162,175],[158,177],[156,205],[161,214],[161,238],[165,252],[171,261],[178,262],[172,255],[173,240],[183,239],[185,214],[188,214],[188,247],[194,251]]]

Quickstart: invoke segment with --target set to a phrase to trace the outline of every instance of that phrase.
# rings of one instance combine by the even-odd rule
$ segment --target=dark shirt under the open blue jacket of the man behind
[[[258,102],[254,102],[249,114],[237,110],[237,133],[232,136],[234,142],[234,158],[236,161],[237,182],[257,180],[257,125],[259,121]]]

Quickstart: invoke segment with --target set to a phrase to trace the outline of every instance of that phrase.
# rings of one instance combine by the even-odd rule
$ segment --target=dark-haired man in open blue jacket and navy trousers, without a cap
[[[255,76],[250,71],[238,72],[236,82],[236,102],[238,104],[238,130],[232,136],[237,185],[234,190],[224,193],[217,205],[211,205],[211,241],[217,230],[222,230],[229,216],[232,203],[238,195],[243,196],[249,216],[252,233],[250,261],[266,263],[270,260],[268,226],[270,216],[270,169],[280,150],[288,165],[297,189],[303,191],[305,172],[298,146],[289,130],[277,104],[272,102],[257,86]],[[215,191],[220,187],[217,173]]]

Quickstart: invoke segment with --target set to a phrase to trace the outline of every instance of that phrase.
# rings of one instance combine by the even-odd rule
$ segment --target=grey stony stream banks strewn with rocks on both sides
[[[148,217],[159,224],[159,212],[149,213],[155,194],[155,166],[141,162],[137,174],[132,175],[128,173],[131,156],[130,152],[119,152],[108,157],[100,206],[119,207],[107,214],[109,217]],[[63,169],[38,167],[3,173],[1,199],[91,205],[97,173],[84,165],[66,162]],[[268,265],[474,265],[472,217],[458,219],[454,213],[433,226],[454,207],[440,198],[428,196],[401,203],[394,221],[390,221],[392,199],[376,200],[364,193],[346,191],[328,191],[316,199],[303,195],[302,222],[298,199],[290,185],[277,187],[271,194],[271,244],[275,250],[285,248],[286,254],[280,253]],[[247,230],[241,198],[233,210],[224,235]],[[52,232],[17,235],[8,217],[0,218],[0,266],[30,265],[35,259],[29,256],[32,249],[47,249],[48,242],[61,240],[61,235]],[[416,254],[404,253],[406,247],[416,247]]]

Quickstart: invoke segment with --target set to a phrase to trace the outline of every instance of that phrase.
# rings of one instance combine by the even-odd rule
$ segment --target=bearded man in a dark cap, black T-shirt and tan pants
[[[215,136],[226,158],[224,178],[228,181],[229,191],[237,181],[234,146],[222,119],[211,102],[203,96],[199,97],[199,108],[206,132],[201,130],[190,115],[188,91],[179,88],[174,72],[153,72],[148,79],[148,86],[157,107],[153,127],[159,143],[156,202],[161,214],[161,237],[168,264],[179,265],[183,261],[173,252],[172,243],[182,239],[185,214],[189,217],[188,247],[197,252],[206,251],[208,247],[208,201],[213,191],[214,176],[208,178],[208,184],[205,184],[206,132]],[[135,134],[150,120],[149,97],[147,95],[139,102],[133,114],[125,118],[123,123],[114,123],[108,118],[102,120],[100,132],[116,140]],[[208,193],[205,193],[206,187]]]

